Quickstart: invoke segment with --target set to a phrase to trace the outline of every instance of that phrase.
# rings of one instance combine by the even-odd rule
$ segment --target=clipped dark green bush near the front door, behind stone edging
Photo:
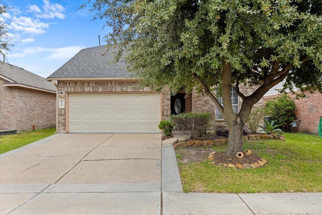
[[[210,117],[210,113],[180,113],[171,115],[170,120],[175,125],[176,130],[192,139],[206,133]]]

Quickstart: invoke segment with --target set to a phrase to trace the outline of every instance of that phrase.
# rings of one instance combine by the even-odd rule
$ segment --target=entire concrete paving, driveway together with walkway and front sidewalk
[[[183,193],[160,134],[55,134],[0,155],[0,214],[321,214],[322,193]]]

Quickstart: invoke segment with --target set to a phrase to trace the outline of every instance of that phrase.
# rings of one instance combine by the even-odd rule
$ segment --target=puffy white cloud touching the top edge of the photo
[[[32,11],[37,18],[44,19],[64,19],[65,18],[65,9],[60,4],[54,3],[50,4],[48,0],[44,0],[44,5],[42,6],[42,11],[36,5],[31,5],[29,10]]]

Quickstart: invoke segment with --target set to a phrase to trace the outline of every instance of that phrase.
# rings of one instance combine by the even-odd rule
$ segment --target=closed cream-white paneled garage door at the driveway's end
[[[158,133],[160,94],[69,94],[70,133]]]

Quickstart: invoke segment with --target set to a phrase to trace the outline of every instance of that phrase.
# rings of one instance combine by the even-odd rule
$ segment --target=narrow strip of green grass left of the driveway
[[[21,132],[17,134],[2,135],[0,136],[0,154],[18,149],[47,136],[51,136],[55,131],[56,128],[48,128]]]

